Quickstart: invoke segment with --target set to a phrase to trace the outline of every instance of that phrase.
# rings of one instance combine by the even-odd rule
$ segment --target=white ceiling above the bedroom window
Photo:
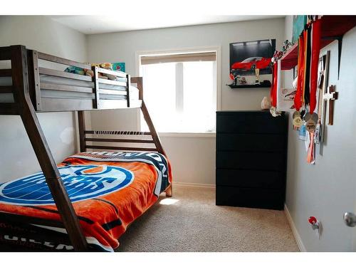
[[[148,28],[169,28],[178,26],[223,23],[231,21],[250,21],[257,19],[273,19],[284,16],[199,16],[172,14],[159,16],[50,16],[54,21],[73,28],[81,33],[110,33],[118,31],[135,31]]]

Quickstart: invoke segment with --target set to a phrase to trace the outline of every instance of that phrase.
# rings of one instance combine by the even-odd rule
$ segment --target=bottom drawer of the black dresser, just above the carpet
[[[278,189],[216,186],[216,205],[283,209],[284,192]]]

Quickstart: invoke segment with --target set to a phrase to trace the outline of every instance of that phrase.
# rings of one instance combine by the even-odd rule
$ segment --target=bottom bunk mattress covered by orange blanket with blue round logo
[[[172,183],[168,160],[155,152],[83,152],[58,170],[90,248],[101,251],[117,248],[127,226]],[[42,172],[0,184],[0,211],[0,243],[73,250],[66,229],[9,223],[4,216],[60,220]]]

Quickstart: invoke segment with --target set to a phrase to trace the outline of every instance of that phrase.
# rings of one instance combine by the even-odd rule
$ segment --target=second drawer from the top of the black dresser
[[[216,136],[216,150],[283,152],[285,147],[286,135],[219,133]]]

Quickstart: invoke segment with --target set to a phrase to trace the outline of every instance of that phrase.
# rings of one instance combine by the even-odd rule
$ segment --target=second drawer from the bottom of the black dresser
[[[216,169],[216,185],[231,187],[285,187],[281,172],[246,169]]]

